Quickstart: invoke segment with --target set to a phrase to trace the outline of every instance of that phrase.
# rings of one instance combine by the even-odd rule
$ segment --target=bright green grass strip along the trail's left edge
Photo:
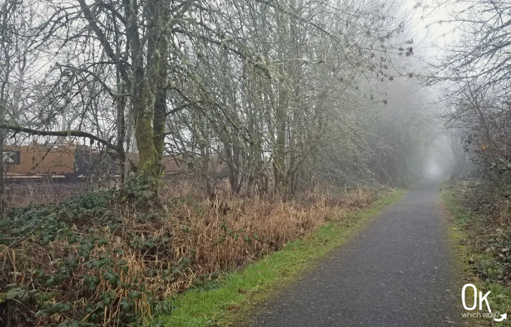
[[[320,227],[304,239],[288,243],[244,270],[226,275],[221,286],[210,290],[190,290],[172,299],[171,315],[160,317],[166,326],[231,325],[249,312],[251,304],[271,293],[274,286],[295,279],[297,274],[331,249],[350,240],[371,217],[405,194],[398,190],[370,207]]]

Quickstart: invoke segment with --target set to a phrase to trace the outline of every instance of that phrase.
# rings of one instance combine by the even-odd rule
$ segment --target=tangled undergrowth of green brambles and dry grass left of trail
[[[318,191],[283,202],[234,196],[197,199],[132,181],[59,203],[30,204],[0,219],[0,325],[157,324],[168,298],[215,287],[243,268],[316,230],[342,208],[381,196],[357,188]]]

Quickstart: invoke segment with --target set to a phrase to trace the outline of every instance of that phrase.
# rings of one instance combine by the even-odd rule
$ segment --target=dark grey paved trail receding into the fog
[[[409,191],[349,244],[273,296],[250,326],[458,326],[438,183]]]

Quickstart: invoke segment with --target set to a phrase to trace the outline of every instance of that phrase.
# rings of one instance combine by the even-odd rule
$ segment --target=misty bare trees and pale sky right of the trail
[[[429,4],[448,9],[433,22],[447,41],[431,60],[427,83],[442,87],[439,115],[452,150],[452,177],[489,181],[509,196],[509,24],[511,3],[458,1]],[[485,191],[486,192],[486,191]]]

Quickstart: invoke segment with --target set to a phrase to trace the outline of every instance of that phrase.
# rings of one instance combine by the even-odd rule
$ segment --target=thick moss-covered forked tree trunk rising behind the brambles
[[[130,28],[136,26],[137,4],[126,0]],[[170,38],[170,3],[166,0],[149,0],[147,8],[147,59],[144,69],[143,49],[137,28],[129,39],[134,63],[133,116],[135,138],[138,146],[138,174],[157,177],[162,172],[165,147],[167,64]]]

